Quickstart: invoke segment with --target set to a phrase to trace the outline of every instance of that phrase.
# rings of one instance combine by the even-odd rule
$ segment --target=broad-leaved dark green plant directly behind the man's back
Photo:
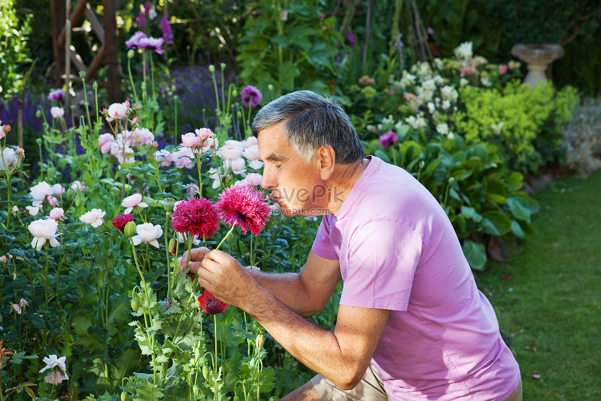
[[[494,145],[466,145],[460,136],[426,139],[409,126],[397,132],[404,134],[394,145],[382,150],[373,139],[367,152],[403,167],[434,195],[472,268],[484,268],[491,237],[524,239],[534,231],[538,206],[520,192],[522,174],[507,173]]]

